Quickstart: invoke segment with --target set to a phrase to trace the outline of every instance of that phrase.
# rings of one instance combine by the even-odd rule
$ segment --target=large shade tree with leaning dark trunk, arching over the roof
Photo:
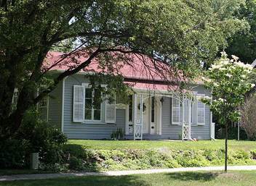
[[[233,17],[239,0],[1,0],[0,139],[15,133],[25,111],[50,93],[63,78],[99,58],[111,67],[113,53],[150,56],[193,75],[199,62],[213,59],[244,22]],[[47,77],[47,53],[58,46],[86,52],[84,62]],[[75,48],[73,48],[75,46]],[[132,63],[132,61],[131,61]],[[63,64],[65,65],[65,64]],[[159,69],[161,72],[161,69]],[[18,88],[16,109],[12,96]]]

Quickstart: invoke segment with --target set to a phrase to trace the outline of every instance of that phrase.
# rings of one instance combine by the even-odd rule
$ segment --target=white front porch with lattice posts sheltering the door
[[[188,94],[136,89],[126,108],[125,137],[129,140],[159,140],[162,134],[162,104],[172,98],[172,122],[180,121],[181,140],[192,140],[192,108],[195,99]]]

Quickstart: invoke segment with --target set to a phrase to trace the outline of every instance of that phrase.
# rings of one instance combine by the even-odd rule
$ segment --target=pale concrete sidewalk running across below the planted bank
[[[161,172],[194,172],[194,171],[223,171],[223,166],[206,166],[206,167],[187,167],[174,169],[147,169],[132,171],[109,171],[109,172],[77,172],[77,173],[56,173],[56,174],[14,174],[0,176],[0,182],[14,181],[22,179],[49,179],[57,177],[81,177],[81,176],[123,176],[129,174],[153,174]],[[256,170],[256,166],[228,166],[232,171],[250,171]]]

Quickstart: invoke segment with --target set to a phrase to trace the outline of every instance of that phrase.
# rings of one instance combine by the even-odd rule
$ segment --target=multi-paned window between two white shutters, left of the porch
[[[84,119],[101,120],[101,93],[99,89],[85,88]]]

